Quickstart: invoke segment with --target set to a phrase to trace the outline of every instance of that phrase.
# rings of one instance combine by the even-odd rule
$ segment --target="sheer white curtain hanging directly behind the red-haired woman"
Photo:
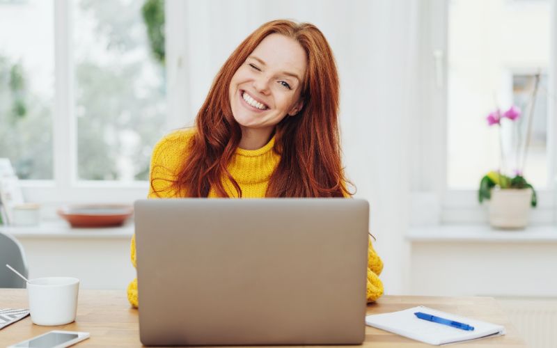
[[[417,2],[167,1],[180,12],[175,22],[187,31],[178,50],[182,53],[167,60],[168,71],[175,73],[168,78],[185,79],[175,95],[183,107],[171,111],[181,115],[176,121],[181,125],[193,122],[222,63],[260,24],[287,18],[323,31],[340,74],[346,173],[356,185],[356,197],[370,202],[370,230],[385,263],[381,278],[386,293],[404,293]]]

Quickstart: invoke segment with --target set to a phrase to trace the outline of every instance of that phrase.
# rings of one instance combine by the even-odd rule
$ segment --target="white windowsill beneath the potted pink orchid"
[[[557,226],[529,226],[524,230],[495,230],[487,225],[464,224],[415,226],[409,229],[406,239],[411,243],[557,243]]]

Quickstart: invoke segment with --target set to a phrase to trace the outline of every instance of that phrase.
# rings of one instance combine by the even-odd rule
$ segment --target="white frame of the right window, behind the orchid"
[[[421,47],[416,93],[420,117],[414,120],[411,148],[411,225],[486,223],[487,206],[478,204],[476,190],[449,190],[447,186],[447,52],[448,1],[423,1],[420,8]],[[557,0],[551,1],[551,17],[557,18]],[[551,59],[548,67],[549,90],[557,87],[557,19],[551,23]],[[556,222],[556,136],[557,98],[548,100],[547,153],[548,188],[538,190],[538,207],[532,209],[531,224]],[[552,130],[552,132],[550,132]],[[551,180],[553,178],[553,180]],[[478,183],[479,184],[479,183]]]

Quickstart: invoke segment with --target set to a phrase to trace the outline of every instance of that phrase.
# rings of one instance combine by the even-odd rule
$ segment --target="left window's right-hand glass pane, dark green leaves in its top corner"
[[[164,2],[76,1],[73,23],[78,179],[148,180],[166,114]]]

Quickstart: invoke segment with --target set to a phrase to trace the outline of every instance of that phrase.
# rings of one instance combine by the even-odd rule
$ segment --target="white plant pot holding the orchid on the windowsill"
[[[531,200],[531,189],[492,189],[489,224],[502,229],[526,228]]]

